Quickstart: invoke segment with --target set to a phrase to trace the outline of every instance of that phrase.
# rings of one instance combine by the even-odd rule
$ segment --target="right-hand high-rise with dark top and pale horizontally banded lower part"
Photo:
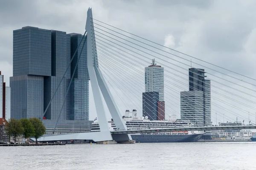
[[[189,68],[189,91],[180,92],[180,117],[196,126],[211,125],[211,83],[205,73]]]

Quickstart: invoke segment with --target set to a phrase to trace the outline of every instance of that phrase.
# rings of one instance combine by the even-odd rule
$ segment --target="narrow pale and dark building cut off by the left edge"
[[[6,117],[6,83],[3,82],[3,75],[0,71],[0,118]]]

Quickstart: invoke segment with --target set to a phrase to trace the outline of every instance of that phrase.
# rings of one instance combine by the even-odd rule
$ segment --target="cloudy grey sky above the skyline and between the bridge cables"
[[[0,0],[0,71],[2,71],[6,83],[9,85],[9,77],[12,77],[13,30],[24,26],[35,26],[66,31],[67,33],[76,32],[83,34],[87,9],[91,7],[93,10],[93,18],[97,20],[139,35],[153,42],[157,42],[160,45],[173,48],[214,65],[256,79],[255,6],[256,1],[254,0]],[[158,48],[172,52],[161,46],[158,46]],[[166,53],[162,54],[167,55]],[[180,55],[178,53],[175,54]],[[153,55],[160,57],[156,54]],[[147,56],[153,58],[150,55]],[[187,59],[187,61],[184,61],[169,54],[168,56],[170,58],[165,60],[175,65],[181,66],[180,63],[172,59],[186,63],[187,66],[182,65],[186,70],[189,68],[188,65],[191,64],[189,62],[190,57],[183,56]],[[99,56],[99,59],[100,58],[101,56]],[[148,63],[143,62],[141,67],[143,68],[149,65],[150,62],[150,60],[148,60]],[[156,59],[156,62],[160,62],[160,59]],[[164,61],[161,62],[165,63]],[[171,68],[175,68],[174,65],[170,65],[167,62],[166,64]],[[236,119],[236,114],[227,113],[225,109],[217,107],[221,105],[228,108],[231,112],[236,112],[238,115],[241,115],[243,118],[239,119],[240,121],[244,119],[244,117],[249,117],[251,113],[250,116],[254,122],[254,118],[256,119],[256,117],[253,116],[256,112],[256,109],[254,109],[254,107],[256,108],[255,103],[246,102],[246,100],[242,100],[240,96],[250,101],[255,99],[253,96],[238,92],[232,88],[254,95],[255,91],[250,89],[256,90],[255,86],[249,85],[245,83],[245,81],[251,82],[252,84],[255,84],[255,81],[192,59],[193,67],[202,68],[202,66],[198,64],[214,69],[210,70],[205,68],[208,73],[207,77],[216,81],[212,82],[212,95],[215,95],[215,98],[212,97],[212,102],[214,102],[214,105],[212,104],[212,109],[214,109],[214,111],[212,111],[212,121],[215,122],[216,116],[213,114],[215,111],[219,111],[219,115],[224,113],[226,120],[228,120],[227,116],[230,116],[230,120],[231,118]],[[108,71],[107,65],[101,66],[102,70]],[[122,68],[122,65],[119,65],[119,68]],[[169,74],[167,71],[173,72],[171,68],[165,67],[165,73]],[[125,79],[125,75],[129,77],[128,74],[125,74],[126,72],[131,73],[131,71],[136,71],[136,73],[140,74],[138,79],[143,80],[143,70],[137,71],[136,69],[132,69],[127,71],[127,69],[121,69],[124,71],[124,74],[122,74],[124,77],[121,77]],[[188,74],[186,70],[175,69]],[[217,71],[236,77],[237,79],[231,79],[227,75]],[[141,97],[141,93],[144,89],[143,84],[133,83],[133,75],[135,75],[135,73],[131,74],[129,77],[131,84],[138,87],[140,86],[139,92],[134,91],[133,95]],[[174,76],[169,75],[170,77]],[[180,73],[178,73],[178,75],[186,79],[188,78]],[[229,79],[230,82],[226,82],[216,76]],[[165,85],[171,86],[175,90],[175,93],[172,94],[165,88],[166,110],[169,112],[166,114],[175,113],[177,117],[179,117],[179,91],[187,91],[187,85],[183,85],[182,83],[188,84],[188,82],[178,77],[175,78],[176,80],[169,79],[168,77],[165,77],[165,79],[183,88],[182,90],[165,81]],[[119,82],[122,83],[121,79],[119,80]],[[221,82],[232,88],[220,85],[217,82]],[[242,88],[235,83],[249,89]],[[131,93],[131,91],[128,91],[122,84],[119,84],[121,88],[118,88],[117,85],[113,83],[109,85],[112,92],[117,91],[126,102],[129,100],[126,99],[125,96],[127,93]],[[238,96],[224,93],[219,88],[236,93]],[[222,94],[222,96],[220,94]],[[113,92],[113,96],[117,98],[116,95],[117,94]],[[249,105],[250,108],[246,105],[237,104],[234,100],[228,99],[227,96]],[[218,99],[221,99],[222,102],[216,101]],[[171,100],[174,102],[171,102]],[[140,99],[136,98],[134,101],[139,103]],[[117,103],[120,105],[119,109],[122,112],[127,108],[141,109],[140,104],[139,106],[134,106],[131,101],[126,103],[128,106],[125,106],[125,102],[117,101]],[[175,105],[176,107],[174,107]],[[234,109],[232,105],[239,107],[239,110]],[[246,114],[246,112],[250,113]],[[95,117],[96,111],[95,106],[93,106],[93,96],[90,91],[90,119],[94,119]],[[223,116],[217,116],[217,118],[217,122],[220,122]]]

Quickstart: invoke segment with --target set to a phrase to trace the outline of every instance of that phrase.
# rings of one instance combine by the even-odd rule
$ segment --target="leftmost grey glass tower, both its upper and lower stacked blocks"
[[[13,31],[11,118],[44,113],[44,77],[51,76],[51,30],[23,27]]]

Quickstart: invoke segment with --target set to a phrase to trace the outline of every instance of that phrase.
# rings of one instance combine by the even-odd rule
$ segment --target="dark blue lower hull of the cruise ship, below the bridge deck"
[[[197,142],[203,133],[192,135],[154,135],[154,134],[134,134],[132,140],[136,143],[174,143],[174,142]]]

